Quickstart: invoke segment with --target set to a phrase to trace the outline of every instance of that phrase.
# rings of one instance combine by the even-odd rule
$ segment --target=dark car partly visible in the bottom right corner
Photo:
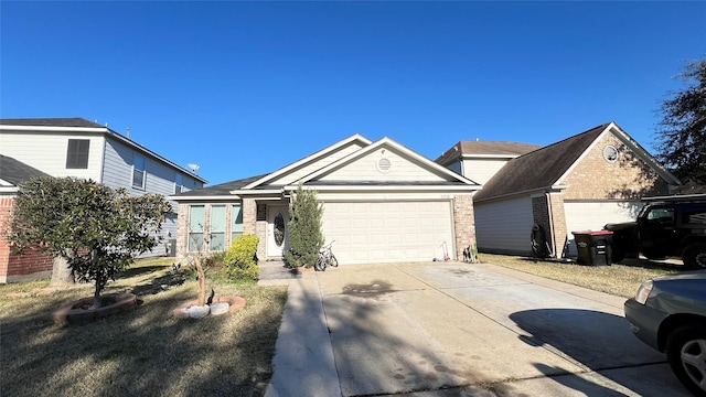
[[[706,396],[706,270],[645,281],[624,310],[635,336],[666,353],[689,391]]]

